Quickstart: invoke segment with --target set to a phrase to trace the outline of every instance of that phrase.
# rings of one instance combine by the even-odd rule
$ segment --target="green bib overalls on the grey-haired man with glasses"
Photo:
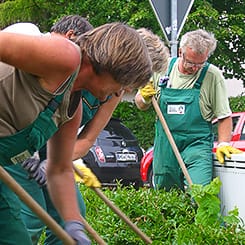
[[[169,76],[176,58],[168,68]],[[212,125],[200,112],[200,87],[208,64],[191,89],[167,88],[160,84],[159,105],[194,184],[208,184],[212,179]],[[184,189],[184,175],[159,119],[156,121],[153,155],[154,186]]]

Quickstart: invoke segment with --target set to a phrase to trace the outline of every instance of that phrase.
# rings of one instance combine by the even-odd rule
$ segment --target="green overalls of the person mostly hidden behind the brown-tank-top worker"
[[[90,121],[94,114],[100,107],[100,101],[95,98],[90,92],[82,91],[82,102],[83,102],[83,116],[81,125],[85,125]],[[46,145],[39,151],[41,160],[46,159]],[[48,214],[56,220],[58,224],[63,226],[63,220],[57,213],[55,207],[50,200],[47,188],[44,186],[40,188],[37,182],[33,179],[28,178],[28,173],[19,164],[15,168],[8,168],[8,172],[21,184],[21,186],[36,200],[47,212]],[[80,208],[80,212],[83,217],[85,217],[86,207],[82,195],[78,186],[76,185],[77,199]],[[24,204],[21,202],[21,217],[27,226],[28,233],[31,236],[32,243],[37,244],[38,240],[42,234],[45,225],[41,220]],[[62,245],[62,242],[51,232],[51,230],[46,228],[46,239],[44,244],[48,245]]]

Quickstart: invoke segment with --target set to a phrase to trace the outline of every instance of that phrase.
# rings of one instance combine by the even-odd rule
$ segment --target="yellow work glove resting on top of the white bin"
[[[223,164],[225,162],[225,157],[231,158],[231,154],[239,154],[242,153],[243,151],[234,148],[230,146],[229,143],[227,142],[222,142],[218,145],[218,148],[216,150],[216,157],[218,161]]]

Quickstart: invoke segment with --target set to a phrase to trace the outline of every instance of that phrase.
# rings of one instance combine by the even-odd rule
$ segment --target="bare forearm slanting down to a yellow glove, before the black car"
[[[88,150],[93,145],[101,130],[110,120],[112,113],[117,107],[121,98],[122,96],[113,96],[109,101],[100,106],[94,118],[84,127],[75,143],[73,153],[74,160],[87,154]]]

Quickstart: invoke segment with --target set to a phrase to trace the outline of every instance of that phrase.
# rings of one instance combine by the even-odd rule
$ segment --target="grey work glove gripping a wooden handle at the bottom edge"
[[[84,232],[82,222],[71,220],[65,222],[65,231],[76,241],[77,245],[90,245],[91,241]]]

